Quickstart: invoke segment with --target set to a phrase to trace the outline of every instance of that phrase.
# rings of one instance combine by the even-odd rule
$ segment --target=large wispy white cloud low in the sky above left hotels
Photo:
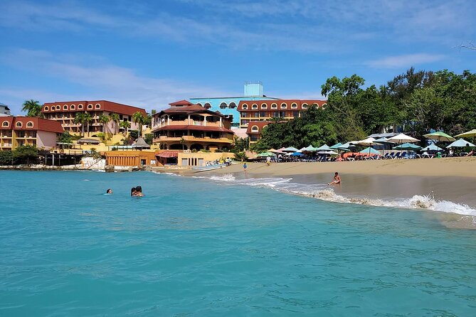
[[[131,104],[137,107],[163,109],[169,102],[193,96],[230,95],[187,80],[171,80],[159,77],[147,77],[137,74],[130,68],[123,68],[105,62],[100,58],[78,57],[75,63],[68,55],[58,55],[42,50],[14,50],[0,56],[3,63],[26,72],[43,73],[56,80],[73,84],[74,95],[58,91],[43,91],[28,87],[10,87],[0,90],[1,95],[9,95],[11,102],[35,98],[41,102],[63,100],[111,100]],[[81,63],[79,60],[83,60]],[[18,100],[20,98],[20,100]],[[13,104],[12,104],[13,105]]]

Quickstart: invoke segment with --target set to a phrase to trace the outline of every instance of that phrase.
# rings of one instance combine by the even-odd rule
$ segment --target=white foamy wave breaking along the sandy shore
[[[443,213],[457,213],[476,217],[476,209],[465,204],[453,203],[448,200],[436,200],[432,195],[413,195],[411,198],[361,198],[344,197],[334,193],[332,188],[324,184],[302,184],[292,182],[292,178],[236,178],[231,174],[223,176],[198,177],[208,178],[220,183],[231,183],[244,186],[268,187],[281,193],[300,195],[334,203],[354,203],[359,205],[371,205],[379,207],[393,207],[406,209],[434,210]]]

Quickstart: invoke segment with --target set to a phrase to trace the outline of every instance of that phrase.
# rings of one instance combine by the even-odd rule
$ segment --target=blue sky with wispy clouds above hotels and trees
[[[332,76],[384,85],[411,66],[475,72],[472,0],[2,0],[0,102],[322,98]]]

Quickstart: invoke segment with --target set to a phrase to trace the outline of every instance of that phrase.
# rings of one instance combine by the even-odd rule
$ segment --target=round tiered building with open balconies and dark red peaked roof
[[[164,150],[226,150],[234,141],[227,116],[187,100],[154,114],[152,132],[153,144]]]

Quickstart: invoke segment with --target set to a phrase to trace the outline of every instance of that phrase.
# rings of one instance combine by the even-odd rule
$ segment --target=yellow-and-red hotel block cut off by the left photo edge
[[[0,117],[0,151],[31,145],[51,149],[63,133],[59,122],[37,117]]]

